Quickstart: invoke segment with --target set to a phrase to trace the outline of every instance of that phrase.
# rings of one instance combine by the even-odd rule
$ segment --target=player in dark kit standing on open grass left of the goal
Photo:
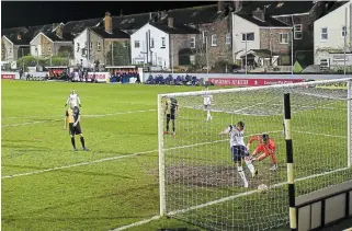
[[[75,105],[75,103],[70,103],[70,107],[66,111],[66,117],[65,117],[65,124],[64,124],[64,130],[67,129],[67,123],[69,125],[69,135],[71,137],[71,143],[73,147],[73,151],[77,151],[76,149],[76,142],[75,142],[75,135],[79,135],[82,143],[82,149],[84,151],[88,151],[88,149],[84,146],[84,137],[81,130],[80,126],[80,119],[81,119],[81,113],[79,108]]]

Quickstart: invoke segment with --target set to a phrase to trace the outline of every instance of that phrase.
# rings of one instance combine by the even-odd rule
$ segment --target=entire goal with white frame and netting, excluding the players
[[[287,226],[295,196],[352,178],[351,81],[159,94],[160,216],[209,230],[269,230]],[[205,94],[214,97],[209,108],[212,120],[206,119],[203,108]],[[284,115],[285,95],[286,100],[289,95],[291,119]],[[166,99],[170,97],[178,101],[180,108],[175,135],[163,134]],[[287,108],[286,105],[286,112]],[[253,178],[243,164],[248,188],[234,164],[229,137],[219,136],[220,130],[240,120],[246,126],[246,145],[251,136],[264,132],[276,145],[276,171],[270,170],[271,157],[253,162],[259,171]],[[287,158],[293,163],[288,165],[286,143],[293,150]],[[250,153],[257,145],[250,146]],[[294,170],[294,174],[287,170]],[[288,187],[287,181],[294,187]],[[258,190],[261,184],[268,186],[266,193]],[[295,188],[289,189],[291,198],[288,188]]]

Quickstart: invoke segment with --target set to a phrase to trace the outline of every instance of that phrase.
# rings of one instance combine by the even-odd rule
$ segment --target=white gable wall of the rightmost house
[[[345,3],[342,7],[336,9],[329,14],[320,18],[314,23],[314,54],[315,54],[315,65],[320,63],[320,59],[326,59],[328,53],[322,49],[340,49],[343,53],[344,37],[342,36],[342,26],[345,24],[345,9],[348,9],[348,36],[347,45],[351,46],[351,21],[350,21],[350,4],[352,2]],[[321,28],[328,28],[328,39],[321,39]],[[349,51],[349,49],[348,49]]]

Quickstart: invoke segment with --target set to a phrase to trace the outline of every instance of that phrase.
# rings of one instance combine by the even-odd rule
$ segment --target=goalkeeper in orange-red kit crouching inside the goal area
[[[273,166],[270,168],[271,171],[276,171],[277,170],[277,162],[276,162],[276,146],[274,140],[272,140],[268,134],[263,134],[261,136],[253,136],[249,139],[248,145],[247,145],[247,150],[249,150],[250,145],[254,141],[259,141],[259,145],[252,152],[252,157],[254,157],[252,160],[253,161],[261,161],[265,159],[266,157],[271,157],[271,161],[273,163]],[[262,153],[257,158],[258,154]]]

